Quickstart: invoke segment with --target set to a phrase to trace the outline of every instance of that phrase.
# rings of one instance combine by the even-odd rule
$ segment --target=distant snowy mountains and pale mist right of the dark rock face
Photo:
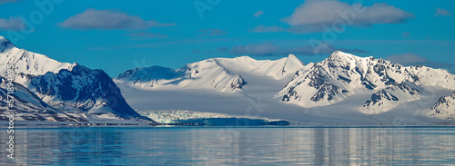
[[[420,110],[416,111],[408,110],[406,104],[433,103],[434,97],[455,90],[455,75],[448,71],[421,65],[402,66],[380,58],[339,51],[319,63],[306,65],[292,54],[275,61],[255,60],[248,56],[213,58],[188,63],[177,70],[158,66],[136,68],[114,80],[122,87],[136,88],[137,91],[128,91],[132,93],[127,93],[126,100],[144,109],[241,113],[249,109],[248,105],[247,108],[237,105],[258,96],[269,105],[261,111],[265,118],[304,122],[311,121],[306,117],[313,117],[318,122],[349,123],[352,117],[362,117],[356,121],[368,123],[414,112],[417,114],[410,118],[430,121],[430,115],[420,113],[430,109],[430,105],[420,104],[417,108]],[[187,89],[217,93],[181,91]],[[148,105],[151,102],[146,99],[159,99],[159,103],[153,104],[161,106]],[[370,119],[372,117],[377,119]]]

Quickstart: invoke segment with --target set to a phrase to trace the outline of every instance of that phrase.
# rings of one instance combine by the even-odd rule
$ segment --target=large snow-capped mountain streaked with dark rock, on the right
[[[415,86],[454,90],[455,75],[445,70],[404,67],[383,59],[337,51],[309,69],[298,71],[278,96],[282,96],[285,103],[313,108],[339,103],[356,90],[371,91],[371,98],[359,110],[380,113],[399,103],[420,99],[423,92]]]

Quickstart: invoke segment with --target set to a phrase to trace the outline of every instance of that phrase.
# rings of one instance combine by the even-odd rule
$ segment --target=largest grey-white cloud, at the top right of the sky
[[[283,21],[296,33],[322,32],[323,25],[331,26],[339,21],[355,26],[372,24],[405,23],[414,15],[385,3],[364,6],[349,5],[338,0],[308,0],[299,5],[294,13]]]

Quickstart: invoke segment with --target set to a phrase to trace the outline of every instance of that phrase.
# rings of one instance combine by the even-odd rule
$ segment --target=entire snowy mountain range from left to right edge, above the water
[[[404,119],[401,124],[439,124],[452,122],[455,114],[452,73],[339,51],[319,63],[303,63],[293,54],[275,61],[211,58],[178,69],[139,67],[110,78],[102,70],[60,63],[0,37],[0,73],[5,75],[11,65],[15,107],[25,121],[154,122],[134,109],[315,125],[391,125],[397,118]],[[1,79],[5,110],[6,81]]]

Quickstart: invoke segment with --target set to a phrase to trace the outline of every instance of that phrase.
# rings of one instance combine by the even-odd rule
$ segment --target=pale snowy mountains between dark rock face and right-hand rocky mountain
[[[277,61],[258,61],[248,56],[213,58],[188,63],[177,70],[151,66],[121,73],[116,82],[131,83],[145,88],[207,89],[221,93],[235,93],[248,84],[240,73],[253,73],[276,80],[289,77],[305,65],[292,54]]]

